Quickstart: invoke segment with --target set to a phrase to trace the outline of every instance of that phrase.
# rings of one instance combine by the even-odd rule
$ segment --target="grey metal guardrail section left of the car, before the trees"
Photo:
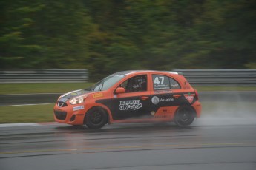
[[[88,81],[87,69],[0,69],[0,83],[59,83]]]

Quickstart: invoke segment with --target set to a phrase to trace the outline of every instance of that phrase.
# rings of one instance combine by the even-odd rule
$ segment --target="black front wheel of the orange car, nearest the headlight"
[[[99,107],[90,109],[85,115],[85,125],[89,129],[100,129],[107,123],[107,120],[108,116],[106,112]]]

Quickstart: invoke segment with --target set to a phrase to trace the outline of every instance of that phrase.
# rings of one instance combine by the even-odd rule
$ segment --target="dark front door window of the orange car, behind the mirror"
[[[147,75],[137,75],[129,78],[120,84],[125,88],[125,92],[143,92],[147,91]]]

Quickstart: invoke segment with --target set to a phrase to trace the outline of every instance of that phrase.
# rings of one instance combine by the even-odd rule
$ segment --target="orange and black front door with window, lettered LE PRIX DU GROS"
[[[148,75],[134,75],[119,84],[125,88],[124,93],[114,94],[114,98],[104,103],[111,110],[114,120],[148,118],[151,113],[148,104],[151,104],[148,92]]]

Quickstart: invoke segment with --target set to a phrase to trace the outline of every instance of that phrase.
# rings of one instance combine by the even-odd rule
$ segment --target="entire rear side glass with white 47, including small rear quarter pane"
[[[165,75],[152,75],[154,90],[180,89],[180,84]]]

